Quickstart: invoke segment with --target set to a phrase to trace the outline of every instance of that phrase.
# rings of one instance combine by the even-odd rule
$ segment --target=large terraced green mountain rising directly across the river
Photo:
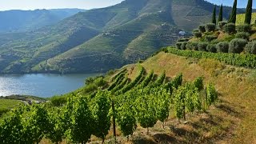
[[[213,9],[204,0],[126,0],[29,33],[0,34],[0,70],[11,74],[114,69],[173,45],[178,31],[210,22]],[[230,11],[224,7],[224,18]]]

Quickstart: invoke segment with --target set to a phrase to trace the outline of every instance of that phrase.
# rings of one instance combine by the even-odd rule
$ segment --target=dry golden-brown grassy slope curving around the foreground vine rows
[[[135,139],[142,135],[140,142],[167,141],[174,143],[186,142],[220,142],[220,143],[254,143],[256,142],[255,94],[256,71],[234,66],[225,66],[213,60],[200,60],[179,57],[161,52],[142,63],[149,72],[173,78],[182,72],[185,81],[194,80],[199,76],[205,82],[214,82],[220,95],[216,106],[206,114],[196,114],[186,124],[177,122],[172,116],[166,122],[168,128],[162,130],[158,123],[150,129],[150,136],[141,127],[135,133]],[[133,70],[133,69],[129,69]],[[132,72],[130,71],[131,75]],[[175,126],[177,128],[172,129]],[[137,135],[138,134],[138,135]],[[135,142],[137,141],[135,140]],[[159,140],[159,141],[158,141]]]

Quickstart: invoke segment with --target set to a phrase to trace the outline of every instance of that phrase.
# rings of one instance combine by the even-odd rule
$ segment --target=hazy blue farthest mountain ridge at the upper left
[[[52,25],[77,14],[79,9],[0,11],[0,32],[25,31]]]

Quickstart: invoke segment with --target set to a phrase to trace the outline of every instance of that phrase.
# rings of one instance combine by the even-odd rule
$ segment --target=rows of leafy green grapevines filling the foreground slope
[[[91,135],[104,142],[110,127],[115,137],[116,126],[129,139],[138,126],[149,134],[158,121],[164,128],[170,114],[183,121],[187,114],[203,113],[218,98],[214,84],[204,85],[202,77],[184,82],[182,74],[167,78],[165,71],[157,76],[139,64],[137,68],[133,80],[121,70],[106,90],[77,94],[63,106],[46,103],[12,110],[0,123],[1,143],[38,143],[42,138],[86,143]]]

